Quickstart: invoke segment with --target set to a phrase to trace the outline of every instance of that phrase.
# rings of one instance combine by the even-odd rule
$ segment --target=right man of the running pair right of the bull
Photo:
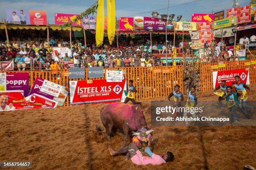
[[[197,105],[197,95],[195,94],[195,85],[192,85],[191,88],[190,88],[190,91],[189,91],[189,95],[187,97],[187,103],[185,105],[185,111],[183,113],[183,117],[187,117],[187,113],[189,113],[188,110],[190,110],[192,107],[196,107]],[[187,109],[189,108],[189,109]],[[188,112],[187,112],[188,111]],[[196,114],[195,112],[192,114],[192,112],[190,112],[190,114],[195,118],[196,117]],[[186,124],[188,125],[188,121],[185,121]]]

